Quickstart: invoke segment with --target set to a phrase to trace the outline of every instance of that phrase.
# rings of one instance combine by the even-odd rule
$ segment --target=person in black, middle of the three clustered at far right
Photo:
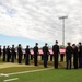
[[[74,69],[78,69],[78,47],[75,46],[75,44],[72,45],[72,52]]]

